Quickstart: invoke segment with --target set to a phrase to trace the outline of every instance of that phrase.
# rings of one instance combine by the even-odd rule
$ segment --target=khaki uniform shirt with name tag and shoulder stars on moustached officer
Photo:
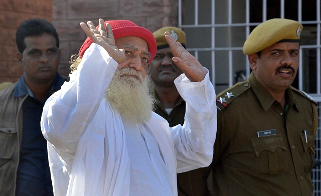
[[[251,74],[217,95],[215,195],[312,195],[315,104],[293,87],[285,94],[284,110]]]

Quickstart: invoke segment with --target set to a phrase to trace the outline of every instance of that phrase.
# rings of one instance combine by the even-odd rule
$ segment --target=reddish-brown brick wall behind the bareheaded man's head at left
[[[30,18],[52,22],[52,0],[0,0],[0,83],[16,82],[23,74],[18,66],[16,31]]]

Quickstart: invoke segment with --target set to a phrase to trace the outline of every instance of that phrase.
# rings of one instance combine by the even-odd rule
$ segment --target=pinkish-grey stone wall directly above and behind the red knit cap
[[[172,0],[52,0],[53,24],[60,38],[62,58],[59,73],[69,74],[70,56],[78,54],[86,35],[80,22],[98,19],[130,20],[153,32],[164,26],[177,26],[178,3]]]

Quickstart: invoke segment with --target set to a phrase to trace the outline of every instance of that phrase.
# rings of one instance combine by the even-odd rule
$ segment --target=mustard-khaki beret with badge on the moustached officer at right
[[[288,19],[271,19],[258,25],[243,46],[245,55],[255,54],[278,42],[299,42],[302,25]]]

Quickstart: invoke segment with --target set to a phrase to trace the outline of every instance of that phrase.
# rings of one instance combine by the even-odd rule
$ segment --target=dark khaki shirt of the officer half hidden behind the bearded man
[[[159,100],[157,93],[152,88],[154,98]],[[156,105],[155,113],[159,116],[165,118],[170,127],[176,126],[178,124],[184,124],[186,103],[184,99],[180,96],[179,101],[174,106],[170,114],[168,114],[162,105],[159,102]],[[187,171],[184,173],[177,174],[177,187],[179,196],[207,196],[211,195],[211,192],[207,188],[207,174],[211,171],[211,168],[199,168],[192,171]]]

